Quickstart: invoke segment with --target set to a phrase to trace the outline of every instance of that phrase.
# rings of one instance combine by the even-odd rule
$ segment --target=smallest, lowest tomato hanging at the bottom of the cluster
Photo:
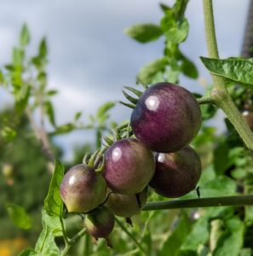
[[[107,238],[113,230],[114,223],[114,215],[107,207],[98,207],[87,214],[84,220],[87,232],[96,239]]]

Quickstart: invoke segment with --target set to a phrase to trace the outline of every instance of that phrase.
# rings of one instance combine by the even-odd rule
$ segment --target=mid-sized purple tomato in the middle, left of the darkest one
[[[135,138],[119,140],[106,150],[103,175],[113,192],[140,193],[155,172],[152,152]]]

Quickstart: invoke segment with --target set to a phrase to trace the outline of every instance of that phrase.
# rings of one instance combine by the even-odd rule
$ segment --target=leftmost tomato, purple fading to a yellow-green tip
[[[68,212],[89,212],[106,197],[106,181],[86,165],[73,166],[63,177],[60,195]]]

